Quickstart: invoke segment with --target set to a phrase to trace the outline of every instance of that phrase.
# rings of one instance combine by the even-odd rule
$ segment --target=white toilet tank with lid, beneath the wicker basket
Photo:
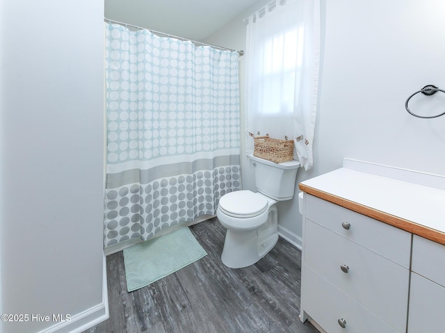
[[[258,192],[278,201],[291,200],[300,163],[274,163],[253,155],[249,157],[255,165],[255,184]]]

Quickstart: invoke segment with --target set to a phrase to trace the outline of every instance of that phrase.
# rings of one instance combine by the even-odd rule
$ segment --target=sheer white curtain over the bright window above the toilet
[[[319,0],[276,0],[248,17],[245,115],[248,133],[294,139],[294,159],[313,165],[320,53]]]

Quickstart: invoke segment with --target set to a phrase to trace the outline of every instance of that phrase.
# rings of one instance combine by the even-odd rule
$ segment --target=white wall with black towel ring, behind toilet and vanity
[[[407,97],[423,86],[445,90],[445,3],[322,0],[321,10],[314,168],[300,169],[297,181],[340,168],[344,157],[445,174],[445,116],[423,120],[405,111]],[[238,44],[245,40],[239,19],[207,42],[244,48]],[[430,109],[443,112],[442,95],[413,97],[410,106],[423,114]],[[252,189],[252,168],[246,160],[243,184]],[[296,197],[280,204],[279,223],[291,241],[300,241]]]

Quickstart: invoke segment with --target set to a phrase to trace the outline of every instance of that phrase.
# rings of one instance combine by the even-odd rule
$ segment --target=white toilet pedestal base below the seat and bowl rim
[[[243,268],[263,258],[278,241],[277,208],[271,206],[267,222],[257,230],[227,229],[221,260],[229,268]]]

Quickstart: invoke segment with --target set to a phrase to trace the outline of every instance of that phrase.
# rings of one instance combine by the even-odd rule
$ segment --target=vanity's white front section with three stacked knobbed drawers
[[[305,198],[302,320],[328,333],[405,332],[411,234]]]

